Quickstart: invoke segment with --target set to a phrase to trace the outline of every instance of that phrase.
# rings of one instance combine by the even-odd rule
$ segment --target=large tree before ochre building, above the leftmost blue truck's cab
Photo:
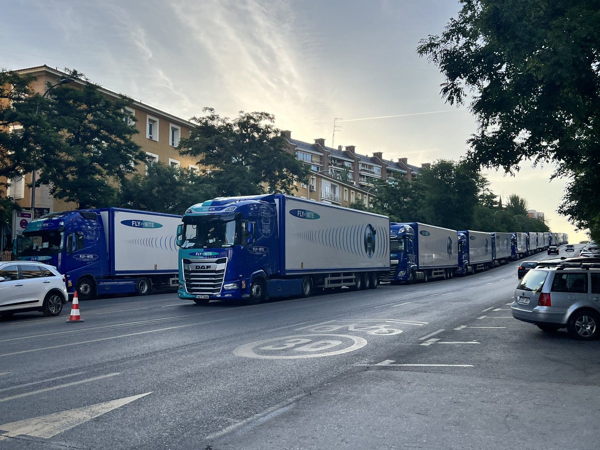
[[[131,99],[109,97],[86,79],[79,84],[58,86],[40,100],[38,112],[55,136],[35,157],[41,171],[37,185],[49,185],[52,196],[79,208],[108,206],[116,201],[119,182],[145,154],[131,140],[137,133],[125,110]]]

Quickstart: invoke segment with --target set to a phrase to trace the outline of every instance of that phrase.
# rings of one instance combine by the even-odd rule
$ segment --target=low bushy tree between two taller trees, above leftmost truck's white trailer
[[[191,205],[215,196],[214,187],[206,182],[205,176],[157,162],[148,166],[146,174],[136,173],[122,181],[118,205],[183,215]]]

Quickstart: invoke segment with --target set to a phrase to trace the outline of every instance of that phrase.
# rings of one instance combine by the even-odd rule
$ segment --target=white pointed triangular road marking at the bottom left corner
[[[104,403],[83,406],[22,421],[10,422],[10,424],[2,424],[0,425],[0,429],[5,430],[5,432],[0,434],[0,440],[20,435],[50,439],[50,437],[56,436],[56,434],[70,430],[77,425],[81,425],[148,394],[152,394],[152,392],[131,395],[131,397],[118,398],[116,400],[105,401]]]

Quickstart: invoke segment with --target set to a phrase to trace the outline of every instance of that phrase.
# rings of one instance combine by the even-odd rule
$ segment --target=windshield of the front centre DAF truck
[[[183,239],[182,248],[232,247],[239,244],[236,220],[231,216],[227,219],[186,218]]]

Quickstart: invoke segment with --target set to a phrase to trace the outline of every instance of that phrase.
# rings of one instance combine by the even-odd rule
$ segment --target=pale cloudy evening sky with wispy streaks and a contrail
[[[265,111],[296,139],[420,166],[458,160],[476,131],[415,50],[458,10],[454,0],[13,0],[2,7],[0,67],[76,69],[184,119],[206,106]],[[486,172],[491,190],[524,197],[553,231],[583,239],[556,213],[566,181],[522,167]]]

